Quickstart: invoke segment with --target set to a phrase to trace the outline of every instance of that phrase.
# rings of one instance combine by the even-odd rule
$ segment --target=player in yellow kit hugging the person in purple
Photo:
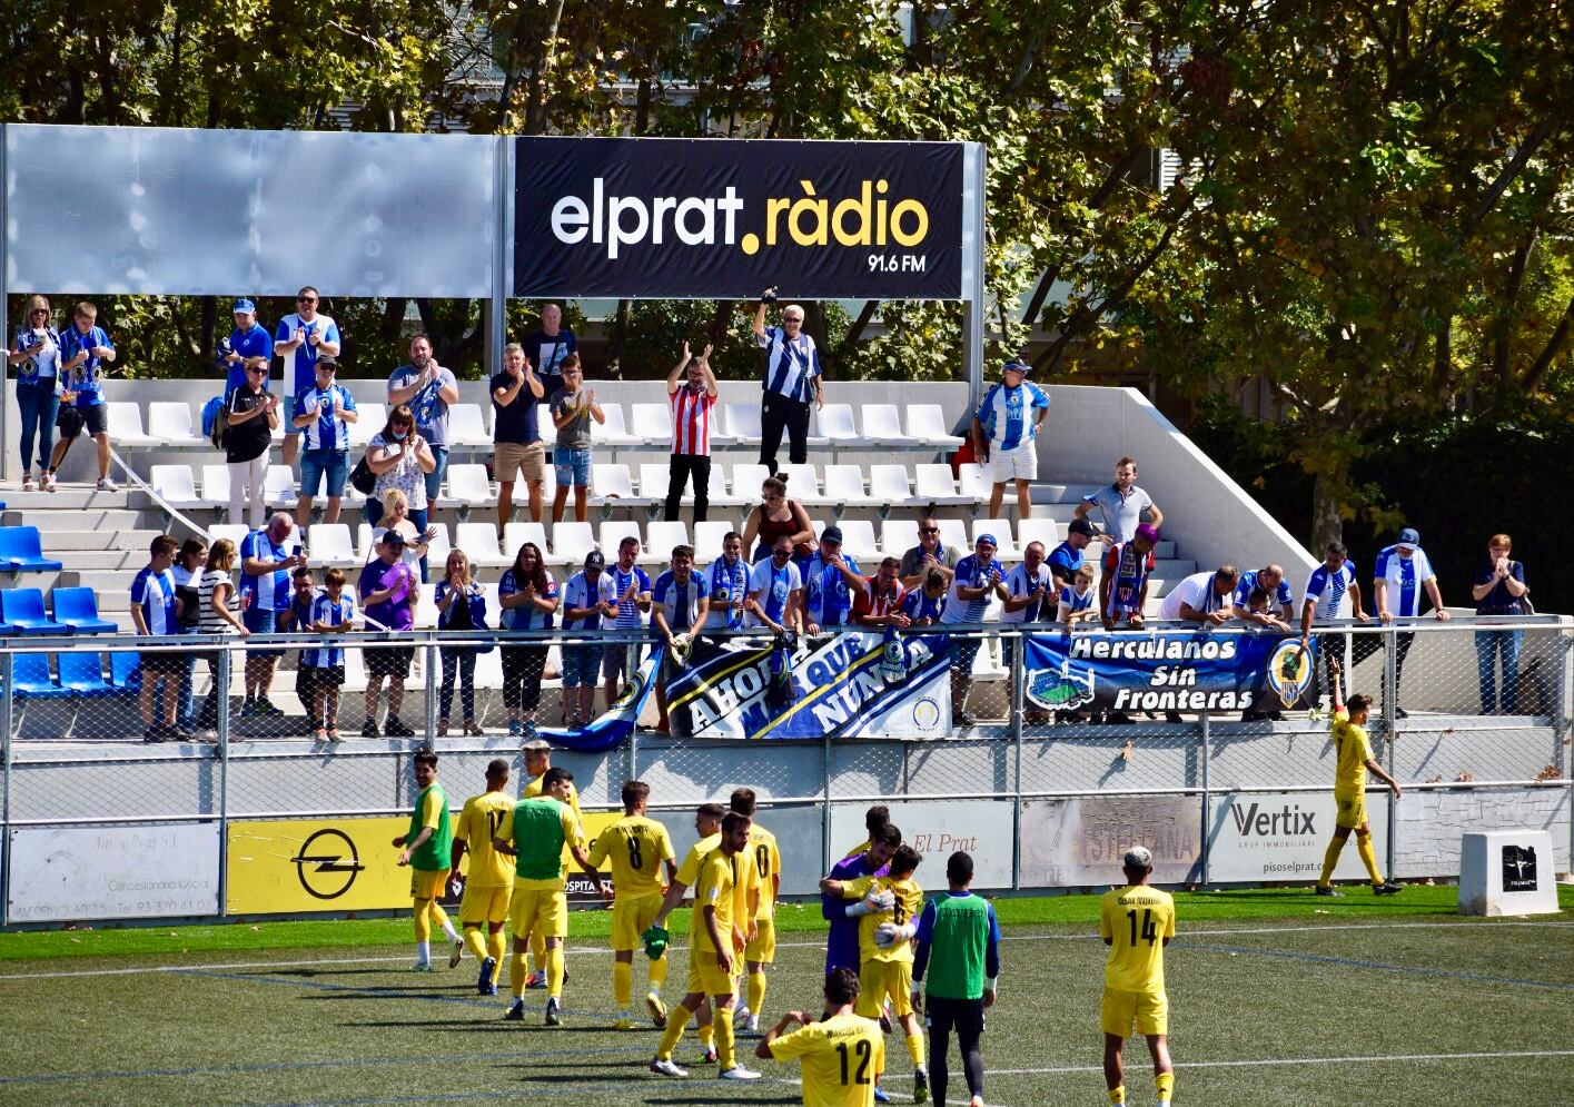
[[[924,890],[913,880],[922,855],[911,846],[897,846],[891,855],[889,874],[853,880],[820,882],[820,891],[842,899],[864,899],[889,893],[891,910],[872,910],[858,920],[858,1014],[878,1019],[885,1003],[902,1022],[907,1053],[913,1058],[913,1102],[929,1096],[929,1071],[924,1068],[924,1031],[913,1009],[913,935],[924,910]]]

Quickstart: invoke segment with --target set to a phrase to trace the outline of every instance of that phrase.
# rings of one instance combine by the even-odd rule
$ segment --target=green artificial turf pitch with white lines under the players
[[[1574,894],[1536,920],[1464,920],[1453,888],[1376,901],[1303,891],[1177,894],[1166,953],[1177,1104],[1552,1104],[1574,1098]],[[985,1101],[1103,1104],[1097,898],[996,904],[1007,942],[988,1014]],[[767,1022],[817,1008],[814,907],[787,907]],[[608,916],[573,916],[562,1028],[502,1022],[477,965],[406,972],[408,920],[0,935],[0,1104],[519,1101],[795,1104],[796,1066],[763,1080],[645,1071],[648,1022],[614,1031]],[[666,997],[686,965],[677,940]],[[636,994],[644,970],[636,964]],[[693,1035],[680,1063],[697,1053]],[[886,1087],[911,1102],[888,1038]],[[1154,1102],[1147,1052],[1127,1042],[1130,1102]],[[952,1060],[949,1099],[966,1102]]]

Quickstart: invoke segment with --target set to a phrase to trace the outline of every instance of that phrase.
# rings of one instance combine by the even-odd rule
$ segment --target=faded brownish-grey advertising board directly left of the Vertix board
[[[1154,853],[1157,883],[1203,879],[1201,795],[1023,800],[1022,887],[1119,883],[1132,846]]]

